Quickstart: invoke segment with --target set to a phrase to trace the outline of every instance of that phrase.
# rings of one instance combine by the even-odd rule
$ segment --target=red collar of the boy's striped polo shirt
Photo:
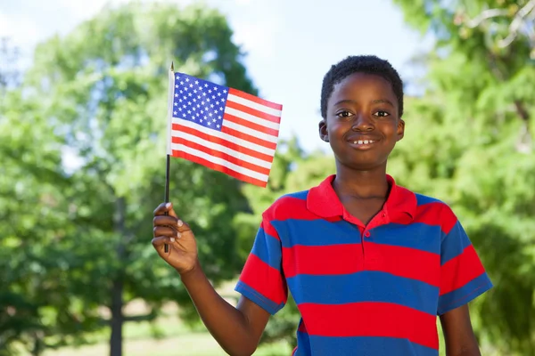
[[[309,190],[307,208],[310,212],[323,218],[343,216],[344,206],[333,189],[335,176],[335,174],[329,175],[323,182]],[[391,175],[386,174],[386,179],[391,186],[390,194],[384,203],[386,214],[392,216],[399,212],[407,213],[414,219],[417,205],[415,194],[397,185]]]

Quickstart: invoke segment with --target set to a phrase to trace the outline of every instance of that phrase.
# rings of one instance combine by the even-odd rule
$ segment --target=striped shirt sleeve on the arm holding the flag
[[[235,291],[271,315],[280,311],[288,299],[282,251],[276,229],[263,214],[251,254],[245,262]]]

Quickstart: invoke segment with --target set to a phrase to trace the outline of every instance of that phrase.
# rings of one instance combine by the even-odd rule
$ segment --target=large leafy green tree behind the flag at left
[[[0,168],[0,206],[13,207],[2,209],[9,258],[1,259],[8,278],[0,297],[26,324],[10,336],[17,320],[6,318],[0,340],[29,344],[31,336],[38,354],[110,326],[115,356],[125,321],[153,320],[169,301],[191,314],[176,273],[150,243],[152,210],[163,200],[168,70],[174,61],[179,71],[256,93],[231,36],[226,19],[204,6],[130,4],[38,45],[2,117],[12,159]],[[243,263],[235,213],[249,209],[242,184],[185,160],[173,159],[170,171],[170,198],[199,239],[209,278],[234,277]],[[136,298],[150,311],[123,315]],[[110,317],[102,320],[99,307]]]

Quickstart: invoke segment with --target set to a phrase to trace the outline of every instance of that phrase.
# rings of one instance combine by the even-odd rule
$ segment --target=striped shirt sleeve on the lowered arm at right
[[[440,245],[440,297],[438,314],[469,303],[492,287],[465,229],[449,210],[453,223]]]

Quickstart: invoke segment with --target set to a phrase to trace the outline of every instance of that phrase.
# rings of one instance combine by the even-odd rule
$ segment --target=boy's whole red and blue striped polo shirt
[[[292,293],[296,356],[438,355],[437,315],[492,287],[461,223],[445,203],[387,175],[390,194],[364,225],[333,179],[262,214],[235,290],[272,315]]]

